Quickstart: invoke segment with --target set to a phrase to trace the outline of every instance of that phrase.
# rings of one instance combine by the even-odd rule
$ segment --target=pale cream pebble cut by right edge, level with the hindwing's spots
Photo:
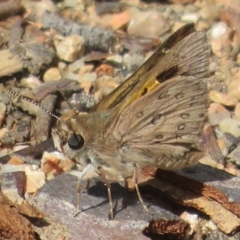
[[[222,132],[229,133],[235,138],[240,137],[240,121],[232,118],[223,119],[219,123]]]

